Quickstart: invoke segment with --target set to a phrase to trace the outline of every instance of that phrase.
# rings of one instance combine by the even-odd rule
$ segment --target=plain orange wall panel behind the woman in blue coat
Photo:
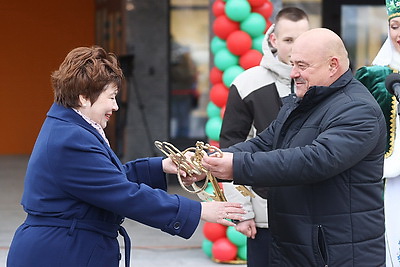
[[[94,1],[0,3],[0,154],[29,154],[53,102],[50,74],[95,40]]]

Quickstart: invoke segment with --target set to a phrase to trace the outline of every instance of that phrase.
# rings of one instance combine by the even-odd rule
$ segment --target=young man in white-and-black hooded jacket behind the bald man
[[[294,40],[309,29],[307,14],[296,7],[280,10],[263,41],[263,58],[257,67],[241,73],[233,81],[224,113],[220,147],[225,148],[256,136],[275,119],[281,99],[294,92],[291,85],[290,51]],[[271,46],[269,45],[271,44]],[[271,51],[274,50],[274,53]],[[236,229],[248,237],[247,266],[268,266],[266,188],[248,187],[254,197],[243,196],[232,183],[224,183],[228,201],[241,202],[247,220]]]

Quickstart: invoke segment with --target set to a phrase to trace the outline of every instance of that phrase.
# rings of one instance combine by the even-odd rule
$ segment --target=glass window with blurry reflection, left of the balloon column
[[[204,139],[209,92],[209,1],[170,2],[170,136]]]

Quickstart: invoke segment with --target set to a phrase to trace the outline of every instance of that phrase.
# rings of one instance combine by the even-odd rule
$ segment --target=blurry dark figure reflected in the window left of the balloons
[[[189,47],[171,39],[171,127],[173,138],[190,135],[190,114],[198,105],[197,67]]]

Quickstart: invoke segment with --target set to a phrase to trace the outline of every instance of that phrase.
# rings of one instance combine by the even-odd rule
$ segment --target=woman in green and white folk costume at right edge
[[[386,118],[385,179],[386,266],[400,266],[400,127],[397,100],[385,79],[400,70],[400,0],[386,0],[389,34],[372,66],[357,70],[355,77],[374,95]]]

